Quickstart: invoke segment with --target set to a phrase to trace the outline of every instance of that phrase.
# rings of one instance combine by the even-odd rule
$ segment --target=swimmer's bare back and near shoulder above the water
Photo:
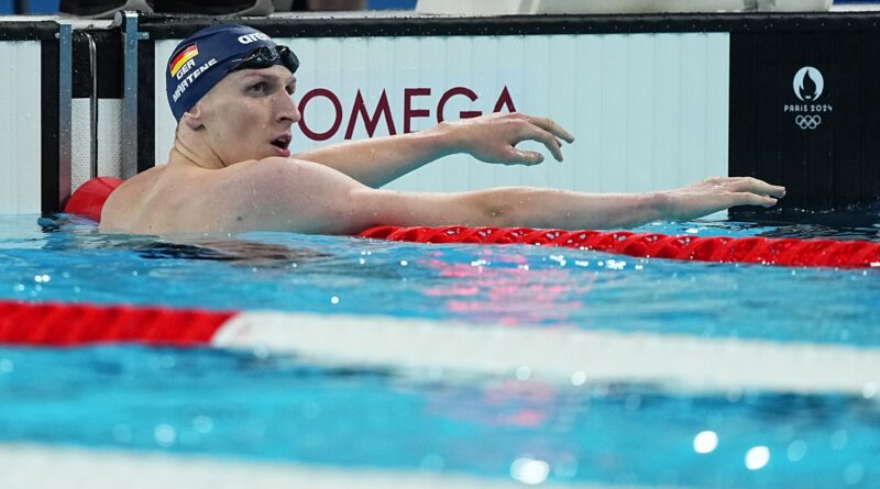
[[[352,232],[346,200],[366,189],[311,162],[271,157],[223,169],[157,167],[108,199],[101,230],[147,234]]]

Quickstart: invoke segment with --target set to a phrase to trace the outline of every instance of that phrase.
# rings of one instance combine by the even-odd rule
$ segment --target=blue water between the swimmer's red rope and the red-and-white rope
[[[16,219],[32,234],[0,227],[0,299],[880,344],[880,323],[866,320],[875,315],[880,297],[879,270],[680,263],[568,248],[422,245],[290,233],[250,233],[238,240],[178,236],[172,243],[105,235],[91,224],[44,232],[34,218]],[[44,222],[52,229],[48,224]],[[705,223],[642,230],[805,233],[796,226]],[[813,227],[816,234],[826,235],[826,230]]]

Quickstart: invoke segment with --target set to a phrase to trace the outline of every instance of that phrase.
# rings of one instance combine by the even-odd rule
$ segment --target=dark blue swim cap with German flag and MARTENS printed
[[[165,71],[168,105],[178,121],[215,85],[237,68],[284,65],[296,71],[299,60],[262,32],[239,24],[213,25],[177,45]]]

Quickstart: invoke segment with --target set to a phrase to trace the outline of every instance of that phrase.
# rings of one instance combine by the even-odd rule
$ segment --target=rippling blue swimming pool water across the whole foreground
[[[654,223],[644,230],[880,241],[877,209],[854,215],[846,229],[833,216],[812,215],[810,224]],[[408,342],[410,324],[427,321],[439,331],[455,322],[477,332],[669,337],[681,342],[682,357],[693,353],[690,341],[722,353],[807,344],[876,355],[878,297],[877,269],[288,233],[172,242],[102,235],[66,216],[0,218],[0,300],[273,310],[317,314],[327,324],[355,316],[365,332],[396,327],[400,348],[417,344]],[[463,364],[481,354],[516,362],[540,348],[497,352],[493,336],[485,337],[484,347],[462,345]],[[650,348],[628,352],[614,362],[619,373],[651,362]],[[138,467],[155,454],[172,457],[162,459],[165,466],[244,464],[250,480],[296,468],[312,477],[302,480],[336,480],[326,487],[367,487],[376,474],[384,487],[880,481],[880,378],[856,391],[796,391],[724,381],[593,381],[579,371],[560,380],[534,375],[534,365],[503,375],[406,365],[314,362],[260,348],[2,347],[0,480],[16,487],[10,477],[22,477],[16,467],[26,454],[63,460],[64,447],[75,447],[110,460],[133,454]],[[352,477],[316,475],[324,471]]]

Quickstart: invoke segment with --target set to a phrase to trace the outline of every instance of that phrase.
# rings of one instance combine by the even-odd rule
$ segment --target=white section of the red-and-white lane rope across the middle
[[[516,376],[557,385],[634,382],[666,390],[759,389],[873,397],[880,348],[575,327],[245,312],[211,340],[315,364]]]

